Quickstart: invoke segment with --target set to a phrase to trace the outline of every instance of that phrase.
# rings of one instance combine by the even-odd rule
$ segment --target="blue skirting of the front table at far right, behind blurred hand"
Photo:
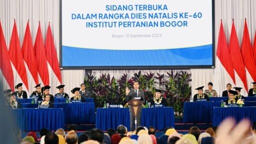
[[[242,118],[248,118],[251,122],[256,121],[256,107],[214,107],[213,108],[213,126],[218,126],[226,117],[233,117],[236,122]]]

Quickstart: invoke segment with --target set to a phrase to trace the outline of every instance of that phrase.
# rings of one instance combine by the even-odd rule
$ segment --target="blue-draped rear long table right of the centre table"
[[[220,101],[185,102],[184,123],[211,123],[213,107],[220,107]],[[243,106],[256,106],[256,101],[244,101]]]

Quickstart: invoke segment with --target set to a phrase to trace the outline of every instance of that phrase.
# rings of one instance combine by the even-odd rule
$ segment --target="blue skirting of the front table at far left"
[[[61,108],[22,108],[12,109],[15,124],[22,131],[39,131],[41,128],[57,130],[64,127]]]

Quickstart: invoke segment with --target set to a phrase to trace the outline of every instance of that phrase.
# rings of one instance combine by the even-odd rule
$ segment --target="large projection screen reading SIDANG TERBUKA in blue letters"
[[[61,66],[213,67],[212,8],[212,0],[61,0]]]

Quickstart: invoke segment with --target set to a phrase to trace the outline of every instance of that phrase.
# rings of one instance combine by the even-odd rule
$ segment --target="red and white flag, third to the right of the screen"
[[[250,88],[250,85],[251,85],[250,82],[256,81],[256,64],[253,57],[246,19],[244,22],[241,52],[242,52],[243,62],[246,68],[247,84]]]

